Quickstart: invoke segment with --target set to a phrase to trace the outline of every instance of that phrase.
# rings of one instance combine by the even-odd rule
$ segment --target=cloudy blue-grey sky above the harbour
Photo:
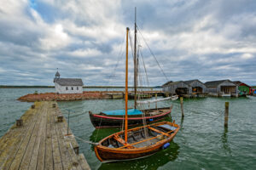
[[[59,68],[61,77],[81,77],[85,85],[124,85],[125,28],[133,39],[134,7],[149,85],[256,85],[254,0],[1,0],[0,84],[53,85]]]

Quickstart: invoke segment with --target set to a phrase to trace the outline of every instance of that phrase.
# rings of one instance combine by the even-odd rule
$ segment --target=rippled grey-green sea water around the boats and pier
[[[0,88],[0,136],[3,136],[32,105],[16,99],[28,93],[53,92],[53,88]],[[86,89],[84,89],[86,90]],[[229,127],[224,128],[224,102],[230,102]],[[88,111],[124,108],[123,99],[58,102],[64,116],[70,109],[70,127],[74,135],[96,142],[119,129],[96,130]],[[129,101],[132,106],[132,101]],[[178,101],[173,105],[172,120],[182,127],[166,150],[136,161],[101,163],[93,147],[78,140],[91,169],[256,169],[256,97],[229,99],[185,99],[184,119]],[[154,105],[151,105],[154,107]]]

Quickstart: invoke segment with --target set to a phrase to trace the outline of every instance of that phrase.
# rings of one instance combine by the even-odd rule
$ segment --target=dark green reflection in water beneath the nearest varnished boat
[[[160,150],[153,156],[129,161],[129,163],[127,161],[102,163],[99,169],[157,169],[169,161],[175,161],[179,154],[179,148],[179,145],[172,141],[169,148]]]

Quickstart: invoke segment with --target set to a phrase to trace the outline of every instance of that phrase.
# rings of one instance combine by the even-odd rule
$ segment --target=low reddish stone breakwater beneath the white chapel
[[[109,99],[111,94],[123,93],[123,92],[83,92],[83,94],[55,94],[55,93],[45,93],[45,94],[26,94],[21,96],[18,100],[35,102],[35,101],[74,101],[74,100],[84,100],[84,99]]]

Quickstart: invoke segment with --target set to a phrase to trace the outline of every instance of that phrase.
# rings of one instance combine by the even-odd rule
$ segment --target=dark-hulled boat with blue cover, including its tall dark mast
[[[136,50],[136,43],[137,43],[137,26],[135,23],[135,50],[134,50],[134,56],[137,56],[137,50]],[[128,41],[128,40],[126,40]],[[128,44],[126,44],[128,45]],[[128,46],[127,46],[128,48]],[[128,49],[126,49],[128,50]],[[127,51],[128,53],[128,51]],[[134,109],[137,110],[137,99],[146,99],[151,98],[151,94],[137,94],[137,62],[138,59],[134,58],[134,92],[128,95],[128,99],[134,99]],[[174,99],[177,99],[176,96],[173,96]],[[172,97],[169,97],[170,99]],[[167,98],[166,98],[167,99]],[[120,110],[119,110],[120,111]],[[172,111],[171,107],[165,107],[165,108],[157,108],[154,109],[148,109],[140,111],[140,114],[134,114],[130,113],[128,111],[128,126],[136,126],[139,124],[142,124],[143,122],[155,122],[159,121],[161,119],[164,119],[166,116],[169,116]],[[104,127],[121,127],[123,125],[123,122],[125,121],[125,111],[123,110],[122,114],[114,114],[116,111],[102,111],[101,113],[92,113],[89,111],[90,114],[90,122],[93,124],[96,128],[104,128]],[[144,114],[144,115],[143,115]]]

